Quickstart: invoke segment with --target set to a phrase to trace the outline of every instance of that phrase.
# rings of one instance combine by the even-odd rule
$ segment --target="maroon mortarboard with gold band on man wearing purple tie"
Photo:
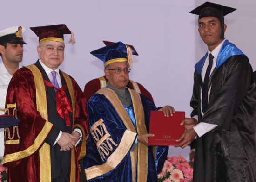
[[[74,34],[65,24],[30,27],[32,31],[39,37],[39,44],[46,41],[56,41],[64,43],[63,35],[71,34],[69,43],[74,44]]]

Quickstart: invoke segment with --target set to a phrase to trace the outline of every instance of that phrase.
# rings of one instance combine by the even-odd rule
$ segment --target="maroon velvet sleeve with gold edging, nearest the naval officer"
[[[14,154],[5,164],[8,167],[18,165],[19,161],[34,155],[53,129],[43,119],[36,108],[35,84],[32,72],[21,68],[15,72],[7,91],[7,113],[17,114],[20,123],[6,129],[5,157]],[[47,127],[47,130],[43,130]],[[13,131],[14,130],[14,131]],[[44,133],[42,138],[42,131]],[[40,137],[40,138],[39,138]],[[36,140],[37,138],[37,140]]]

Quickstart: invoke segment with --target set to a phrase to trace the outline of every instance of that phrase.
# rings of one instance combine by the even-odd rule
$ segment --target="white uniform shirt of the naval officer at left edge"
[[[21,66],[19,66],[21,68]],[[0,114],[4,114],[5,100],[7,94],[8,85],[12,79],[11,75],[4,63],[0,63]],[[4,155],[4,128],[0,128],[0,156]]]

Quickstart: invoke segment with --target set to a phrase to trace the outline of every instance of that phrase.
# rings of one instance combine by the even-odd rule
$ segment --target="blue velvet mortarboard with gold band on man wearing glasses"
[[[90,53],[103,61],[104,68],[108,64],[115,62],[128,62],[128,66],[132,67],[132,54],[135,53],[135,50],[122,42],[117,42],[94,50]]]

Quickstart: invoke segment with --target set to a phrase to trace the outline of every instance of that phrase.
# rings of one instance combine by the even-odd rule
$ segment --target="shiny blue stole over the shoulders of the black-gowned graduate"
[[[205,62],[207,55],[208,55],[208,52],[205,54],[205,56],[202,57],[202,59],[199,62],[197,62],[195,64],[195,69],[199,75],[202,72],[202,67],[203,67],[203,64]],[[224,63],[229,57],[235,56],[235,55],[244,55],[244,54],[240,49],[238,49],[236,47],[236,45],[230,43],[229,40],[225,40],[225,42],[222,44],[221,50],[218,54],[215,68],[218,69],[222,65],[222,63]],[[247,57],[247,59],[248,59],[248,57]],[[249,59],[248,59],[248,61],[249,61]]]

